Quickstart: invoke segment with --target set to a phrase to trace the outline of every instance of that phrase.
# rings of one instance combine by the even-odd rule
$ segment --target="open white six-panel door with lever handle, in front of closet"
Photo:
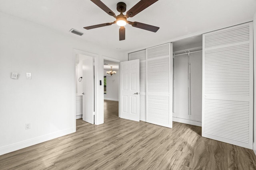
[[[120,63],[120,117],[140,121],[140,61]]]

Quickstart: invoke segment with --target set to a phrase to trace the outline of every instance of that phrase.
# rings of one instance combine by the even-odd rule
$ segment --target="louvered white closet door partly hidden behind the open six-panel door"
[[[129,53],[129,60],[140,60],[140,121],[146,121],[146,50]]]

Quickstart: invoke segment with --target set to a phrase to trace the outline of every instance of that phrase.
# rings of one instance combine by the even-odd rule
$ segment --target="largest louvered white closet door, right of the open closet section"
[[[252,149],[252,23],[203,35],[202,136]]]

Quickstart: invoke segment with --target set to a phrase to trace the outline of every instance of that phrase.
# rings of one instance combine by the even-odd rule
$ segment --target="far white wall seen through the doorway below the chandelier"
[[[104,70],[104,76],[107,78],[107,94],[104,94],[104,99],[118,101],[119,70],[117,70],[116,74],[113,74],[112,76],[107,74],[106,71],[109,70]]]

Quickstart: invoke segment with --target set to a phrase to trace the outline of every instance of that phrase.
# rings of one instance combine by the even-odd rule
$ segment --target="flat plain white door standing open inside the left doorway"
[[[83,121],[94,124],[94,69],[93,57],[83,60]]]

